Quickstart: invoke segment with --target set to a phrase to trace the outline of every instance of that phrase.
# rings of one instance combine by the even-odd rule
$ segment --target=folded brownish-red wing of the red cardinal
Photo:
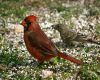
[[[45,33],[40,30],[33,30],[29,32],[28,39],[30,45],[44,54],[57,54],[57,49],[53,42],[48,39]]]

